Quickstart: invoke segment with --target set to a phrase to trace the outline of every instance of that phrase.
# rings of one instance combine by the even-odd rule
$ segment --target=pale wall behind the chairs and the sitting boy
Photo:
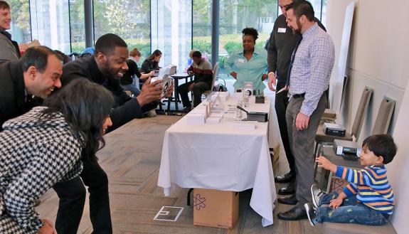
[[[336,1],[339,0],[328,0],[329,12],[336,11]],[[387,168],[398,204],[392,218],[398,233],[406,233],[408,225],[405,222],[409,216],[409,145],[406,139],[409,135],[408,9],[408,0],[356,0],[347,64],[350,83],[344,116],[341,118],[350,129],[363,88],[368,86],[373,89],[358,139],[358,143],[361,143],[371,134],[383,96],[396,100],[388,133],[393,134],[398,144],[398,154]],[[329,22],[337,20],[336,14],[327,14],[327,18]]]

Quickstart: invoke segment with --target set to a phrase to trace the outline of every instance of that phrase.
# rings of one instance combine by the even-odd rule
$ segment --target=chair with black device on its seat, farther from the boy
[[[361,132],[361,127],[363,124],[363,119],[365,117],[366,111],[368,110],[369,100],[371,100],[373,90],[369,87],[363,89],[361,100],[359,101],[358,110],[356,110],[356,115],[354,123],[352,124],[351,132],[346,132],[345,137],[331,136],[324,132],[324,125],[320,124],[317,129],[317,134],[315,136],[315,150],[314,155],[317,155],[318,144],[322,142],[334,142],[334,139],[342,139],[345,141],[356,142]]]

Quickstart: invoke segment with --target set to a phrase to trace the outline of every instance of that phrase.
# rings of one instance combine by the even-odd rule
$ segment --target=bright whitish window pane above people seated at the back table
[[[152,1],[152,51],[159,49],[162,57],[159,65],[177,65],[185,70],[191,50],[190,0]]]

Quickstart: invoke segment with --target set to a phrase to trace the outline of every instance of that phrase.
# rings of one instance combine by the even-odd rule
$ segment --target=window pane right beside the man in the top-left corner
[[[28,43],[31,41],[30,6],[28,0],[8,0],[11,10],[10,33],[14,41]]]

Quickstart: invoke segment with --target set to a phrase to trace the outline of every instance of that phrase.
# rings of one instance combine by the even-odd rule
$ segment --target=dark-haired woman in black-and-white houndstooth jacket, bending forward
[[[75,178],[96,160],[112,122],[114,98],[79,79],[48,97],[43,107],[10,119],[0,132],[0,233],[56,233],[34,204],[58,181]],[[81,154],[83,152],[83,154]],[[82,155],[82,156],[81,156]]]

